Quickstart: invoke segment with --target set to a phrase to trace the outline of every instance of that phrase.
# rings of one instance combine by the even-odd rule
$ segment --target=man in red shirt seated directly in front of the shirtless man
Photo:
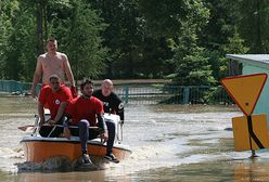
[[[52,132],[51,130],[54,123],[63,122],[65,108],[72,100],[72,92],[66,86],[60,83],[57,75],[51,75],[49,81],[49,86],[44,86],[41,89],[38,98],[39,126],[41,126],[39,133],[42,136],[48,136],[49,134],[49,136],[59,136],[62,132],[61,128],[54,128]],[[51,114],[51,118],[47,121],[44,120],[44,105],[48,105]],[[46,125],[43,126],[43,123]]]

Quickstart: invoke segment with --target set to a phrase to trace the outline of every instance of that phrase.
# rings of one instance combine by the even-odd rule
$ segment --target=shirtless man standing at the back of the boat
[[[50,38],[47,41],[47,53],[39,55],[37,58],[36,72],[31,86],[31,96],[34,99],[37,98],[36,87],[40,78],[42,78],[42,86],[46,86],[50,82],[50,76],[56,74],[60,77],[61,83],[64,83],[65,76],[67,77],[72,94],[76,98],[77,92],[74,76],[67,56],[64,53],[56,52],[57,41],[53,38]]]

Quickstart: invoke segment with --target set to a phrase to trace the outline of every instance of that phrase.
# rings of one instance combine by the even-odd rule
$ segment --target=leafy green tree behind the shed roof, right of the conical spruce
[[[198,34],[198,43],[206,49],[213,76],[216,80],[220,80],[229,75],[228,66],[230,64],[226,54],[243,54],[248,51],[245,47],[246,42],[239,34],[239,29],[245,27],[245,25],[239,25],[242,20],[242,13],[239,11],[242,1],[204,0],[204,3],[210,11],[210,17],[204,30]],[[243,11],[249,11],[248,5],[244,5]],[[234,68],[239,68],[238,64]],[[240,70],[236,73],[239,74]]]

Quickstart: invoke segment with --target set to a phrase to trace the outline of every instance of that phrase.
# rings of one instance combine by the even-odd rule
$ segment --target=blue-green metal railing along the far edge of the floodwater
[[[30,82],[0,80],[0,91],[28,94]],[[40,84],[37,92],[40,90]],[[114,91],[126,104],[231,104],[231,98],[219,87],[204,86],[115,86]]]

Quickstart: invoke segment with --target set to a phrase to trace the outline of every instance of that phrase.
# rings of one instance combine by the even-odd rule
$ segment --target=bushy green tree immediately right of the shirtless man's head
[[[103,40],[100,36],[106,25],[102,23],[97,11],[82,1],[73,1],[69,23],[69,41],[66,46],[75,78],[98,78],[104,72],[103,61],[107,56],[107,49],[102,47]]]

